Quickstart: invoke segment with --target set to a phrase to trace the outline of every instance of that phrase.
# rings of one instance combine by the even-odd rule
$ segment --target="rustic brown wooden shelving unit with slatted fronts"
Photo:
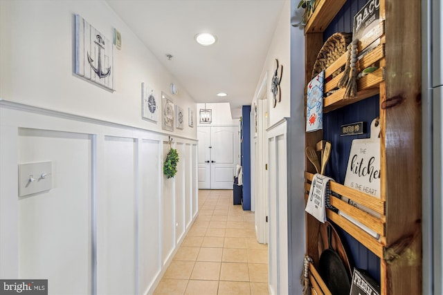
[[[348,0],[354,1],[354,0]],[[356,0],[355,0],[356,1]],[[323,46],[323,32],[346,0],[318,0],[316,10],[305,27],[305,81],[311,80],[316,53]],[[421,48],[420,3],[403,0],[380,0],[380,18],[375,38],[380,44],[359,61],[365,68],[377,63],[379,69],[358,81],[358,93],[352,99],[343,99],[344,90],[325,97],[324,113],[335,111],[368,97],[379,95],[381,124],[381,198],[374,198],[342,184],[332,182],[334,196],[345,196],[377,213],[374,217],[365,211],[332,198],[331,204],[339,211],[358,220],[377,232],[380,238],[363,231],[338,213],[327,210],[327,218],[358,240],[380,258],[381,294],[422,294],[422,150],[421,150]],[[353,12],[355,13],[355,12]],[[359,50],[373,39],[361,40]],[[341,68],[342,56],[325,70],[325,77]],[[336,88],[342,74],[325,84],[325,93]],[[305,134],[307,146],[316,146],[323,140],[323,132]],[[334,144],[334,143],[333,143]],[[309,194],[314,166],[306,160],[305,200]],[[330,294],[318,275],[319,222],[306,215],[306,251],[314,260],[309,266],[309,280],[316,294]],[[377,278],[376,278],[377,279]]]

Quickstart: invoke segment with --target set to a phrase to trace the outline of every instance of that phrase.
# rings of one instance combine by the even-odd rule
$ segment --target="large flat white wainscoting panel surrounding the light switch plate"
[[[92,259],[91,135],[17,131],[18,162],[51,160],[53,178],[52,189],[18,198],[19,277],[47,278],[56,294],[88,294],[92,287],[91,273],[85,272],[91,269]]]

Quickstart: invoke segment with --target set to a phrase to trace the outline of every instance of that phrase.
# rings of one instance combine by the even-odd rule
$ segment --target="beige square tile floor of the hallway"
[[[199,216],[154,295],[268,295],[268,246],[233,191],[200,190]]]

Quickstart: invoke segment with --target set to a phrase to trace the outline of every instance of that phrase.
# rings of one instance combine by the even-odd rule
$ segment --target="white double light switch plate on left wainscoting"
[[[53,187],[52,162],[19,164],[19,196],[48,191]]]

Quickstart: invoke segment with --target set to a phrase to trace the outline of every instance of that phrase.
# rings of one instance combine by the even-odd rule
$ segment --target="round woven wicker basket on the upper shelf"
[[[312,69],[311,79],[314,79],[318,73],[325,70],[334,61],[345,54],[347,51],[347,45],[352,41],[352,34],[347,32],[336,32],[334,35],[329,37],[320,52],[317,55],[316,62],[314,63],[314,68]],[[344,70],[345,66],[336,70],[332,77],[335,77]],[[326,78],[326,77],[325,77]]]

